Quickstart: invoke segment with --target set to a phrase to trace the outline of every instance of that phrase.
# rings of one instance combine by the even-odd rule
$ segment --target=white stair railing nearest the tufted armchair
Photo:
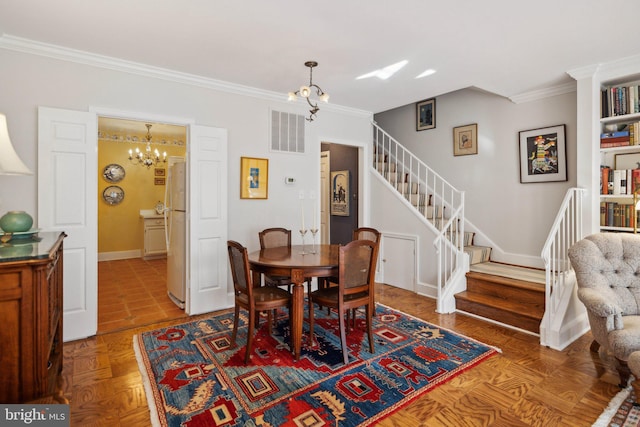
[[[568,250],[582,239],[583,188],[570,188],[564,197],[542,249],[546,271],[545,313],[540,324],[540,344],[561,349],[560,328],[574,294],[574,274]]]

